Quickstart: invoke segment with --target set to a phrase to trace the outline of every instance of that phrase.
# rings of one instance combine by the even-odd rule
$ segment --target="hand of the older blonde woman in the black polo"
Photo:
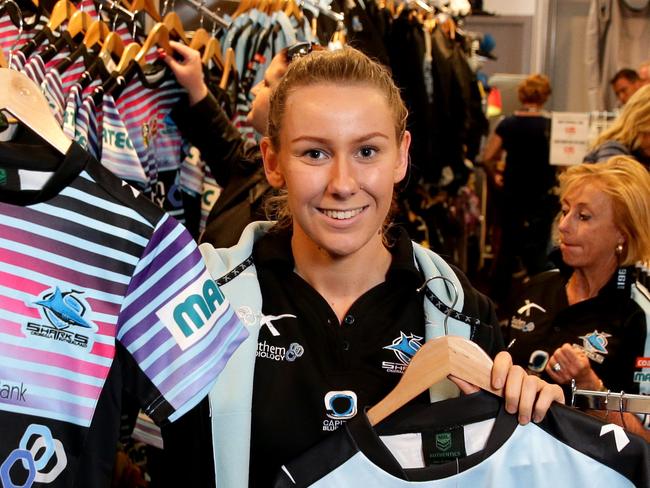
[[[560,385],[569,384],[575,379],[578,388],[599,390],[603,386],[600,378],[591,369],[585,352],[571,344],[562,344],[555,350],[546,363],[546,373]]]

